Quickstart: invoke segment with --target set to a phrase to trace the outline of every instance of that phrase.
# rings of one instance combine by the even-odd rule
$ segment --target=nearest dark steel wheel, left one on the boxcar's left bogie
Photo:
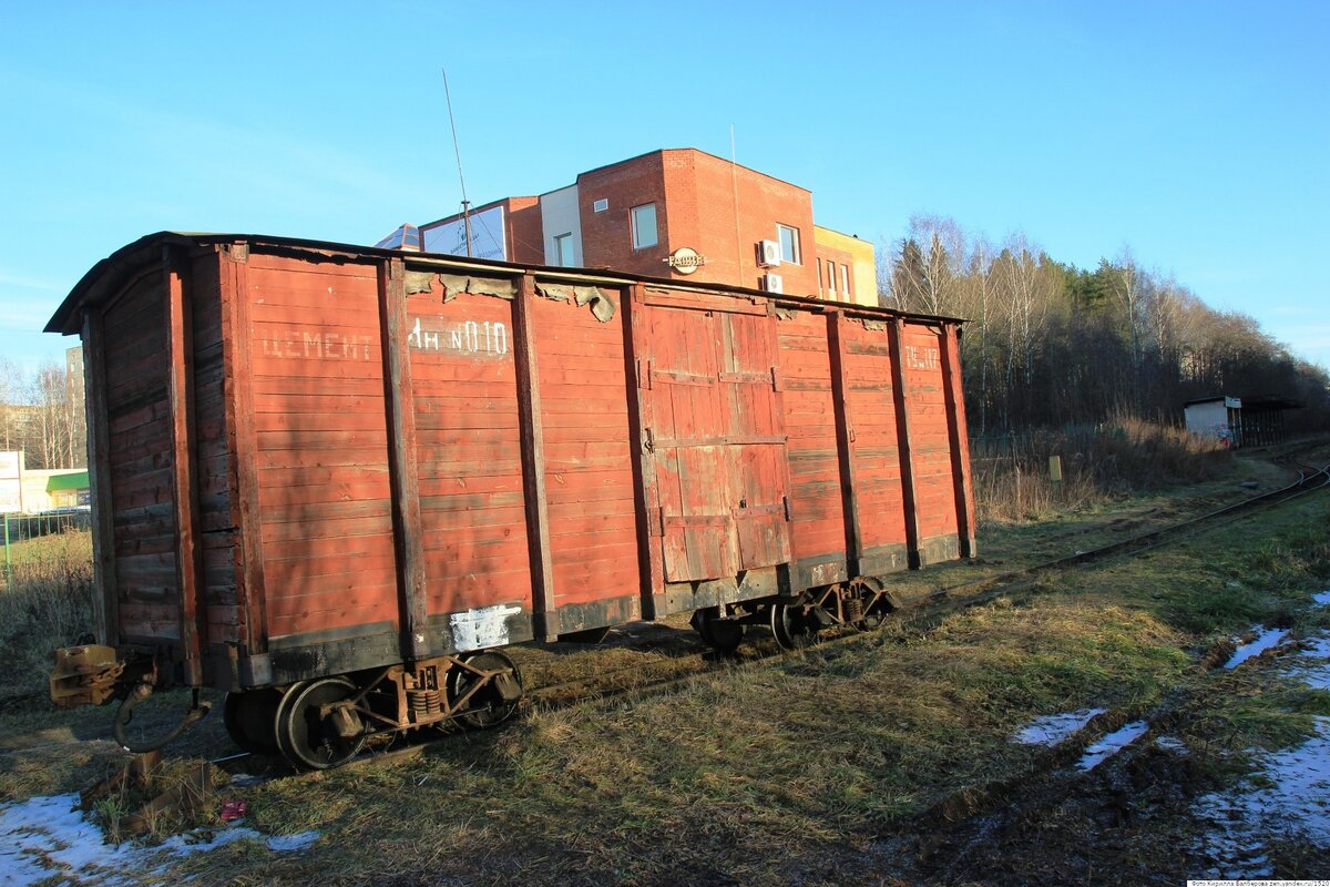
[[[282,754],[301,767],[326,770],[346,763],[364,745],[364,723],[354,710],[325,713],[323,706],[356,693],[347,678],[319,678],[297,684],[277,709],[277,739]]]

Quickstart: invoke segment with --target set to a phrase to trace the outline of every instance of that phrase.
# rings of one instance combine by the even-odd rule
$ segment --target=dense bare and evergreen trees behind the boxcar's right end
[[[1093,269],[1059,262],[1013,234],[1001,243],[954,219],[915,215],[879,257],[882,303],[968,319],[966,408],[975,435],[1101,423],[1180,423],[1186,400],[1278,398],[1290,428],[1325,427],[1330,378],[1261,331],[1217,311],[1124,249]]]

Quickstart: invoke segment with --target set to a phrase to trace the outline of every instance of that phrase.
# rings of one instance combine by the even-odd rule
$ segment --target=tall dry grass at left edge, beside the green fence
[[[47,686],[52,650],[93,630],[92,535],[70,531],[19,543],[0,588],[0,649],[8,657],[0,696]]]

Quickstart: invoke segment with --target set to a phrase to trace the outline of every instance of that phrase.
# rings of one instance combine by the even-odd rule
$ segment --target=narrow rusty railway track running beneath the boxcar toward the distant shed
[[[1137,536],[1132,536],[1130,539],[1119,540],[1108,545],[1077,551],[1073,555],[1043,561],[1024,569],[1011,570],[999,576],[938,589],[930,594],[911,600],[903,609],[894,610],[892,614],[883,621],[882,626],[891,625],[896,632],[924,632],[934,626],[947,613],[966,606],[982,605],[1003,594],[1025,590],[1032,586],[1036,580],[1051,573],[1088,567],[1091,564],[1103,563],[1116,557],[1141,555],[1162,545],[1182,541],[1201,532],[1208,532],[1249,517],[1250,515],[1265,508],[1271,508],[1303,496],[1309,496],[1314,492],[1323,491],[1330,487],[1330,464],[1314,465],[1294,460],[1294,456],[1298,452],[1311,449],[1314,445],[1317,444],[1302,447],[1275,457],[1275,461],[1282,461],[1297,472],[1297,480],[1281,487],[1279,489],[1253,496],[1197,517],[1140,533]],[[878,626],[878,629],[882,626]],[[821,641],[818,648],[829,649],[839,645],[862,642],[866,638],[879,634],[878,629],[870,632],[842,629],[839,634]],[[697,677],[706,674],[717,665],[742,670],[777,658],[783,653],[785,650],[775,644],[763,641],[758,646],[750,645],[738,656],[732,657],[725,657],[714,650],[697,652],[686,656],[673,656],[668,660],[669,674],[657,676],[661,677],[661,680],[652,680],[649,674],[650,669],[637,664],[609,672],[600,672],[585,678],[540,686],[529,692],[527,694],[527,699],[529,703],[541,706],[545,710],[559,710],[585,702],[610,702],[629,696],[664,696],[673,693],[680,688],[686,688]],[[648,673],[648,677],[644,681],[613,681],[613,678],[626,674],[642,676],[644,672]],[[408,738],[406,745],[402,745],[403,741],[400,738],[395,738],[386,749],[367,750],[342,766],[355,767],[408,758],[422,754],[456,735],[458,734],[454,731],[426,741],[419,741],[418,737]],[[229,755],[214,763],[219,763],[221,761],[237,761],[245,757],[247,755]],[[307,774],[293,775],[301,777]]]

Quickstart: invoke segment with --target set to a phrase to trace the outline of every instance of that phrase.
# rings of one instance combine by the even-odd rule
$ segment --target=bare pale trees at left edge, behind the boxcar
[[[82,379],[55,360],[24,371],[0,356],[0,451],[20,451],[29,469],[88,464]]]

